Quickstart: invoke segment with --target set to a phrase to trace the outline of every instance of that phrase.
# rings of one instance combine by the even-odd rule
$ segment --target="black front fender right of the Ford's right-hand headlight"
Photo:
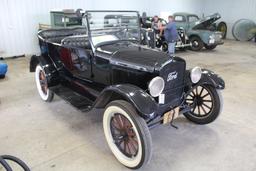
[[[225,88],[225,81],[213,71],[207,69],[202,69],[202,78],[197,84],[208,84],[220,90]]]

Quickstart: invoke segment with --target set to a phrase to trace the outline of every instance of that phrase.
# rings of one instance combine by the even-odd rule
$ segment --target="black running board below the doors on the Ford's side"
[[[77,108],[82,112],[86,112],[91,109],[93,102],[88,98],[79,95],[78,93],[72,91],[71,89],[58,85],[52,87],[51,90],[63,100],[70,103],[72,106]]]

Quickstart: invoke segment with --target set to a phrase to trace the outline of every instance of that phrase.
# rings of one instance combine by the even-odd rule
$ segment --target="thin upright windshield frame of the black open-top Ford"
[[[89,14],[90,13],[93,13],[93,12],[106,12],[106,13],[129,13],[129,12],[133,12],[133,13],[136,13],[137,14],[137,23],[138,23],[138,34],[139,34],[139,38],[138,40],[131,40],[131,39],[127,39],[127,40],[115,40],[115,41],[106,41],[106,42],[101,42],[97,45],[94,45],[93,44],[93,41],[92,41],[92,32],[91,32],[91,28],[90,28],[90,23],[89,23]],[[112,44],[112,43],[115,43],[115,42],[120,42],[120,41],[130,41],[130,42],[141,42],[141,27],[140,27],[140,14],[138,11],[128,11],[128,10],[87,10],[85,11],[83,17],[86,19],[86,29],[87,29],[87,33],[88,33],[88,38],[89,38],[89,42],[91,44],[91,47],[93,49],[93,51],[95,51],[98,47],[104,45],[104,44]]]

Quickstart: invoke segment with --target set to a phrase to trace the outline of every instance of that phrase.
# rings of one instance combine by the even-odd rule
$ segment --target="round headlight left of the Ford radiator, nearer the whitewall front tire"
[[[162,77],[153,78],[148,85],[150,95],[158,97],[164,90],[164,84],[164,79]]]

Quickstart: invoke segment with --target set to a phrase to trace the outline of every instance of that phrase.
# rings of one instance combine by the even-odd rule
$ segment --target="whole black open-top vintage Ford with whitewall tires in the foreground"
[[[104,22],[109,15],[136,17],[137,24],[113,27]],[[224,81],[140,45],[138,12],[86,11],[83,22],[84,27],[40,31],[41,56],[32,57],[30,69],[44,101],[57,94],[84,112],[104,109],[107,143],[123,165],[136,169],[149,162],[150,128],[173,125],[179,114],[197,124],[218,117]]]

